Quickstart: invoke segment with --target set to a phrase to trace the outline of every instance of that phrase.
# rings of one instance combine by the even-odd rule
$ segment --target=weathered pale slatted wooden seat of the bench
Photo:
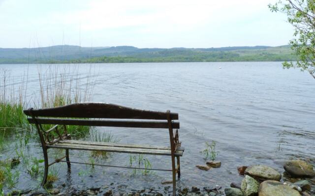
[[[77,149],[77,150],[95,150],[95,151],[107,151],[107,152],[124,152],[124,153],[136,153],[136,154],[153,154],[153,155],[171,155],[170,150],[161,149],[144,149],[144,148],[127,148],[127,147],[102,147],[80,144],[63,144],[57,143],[54,145],[47,145],[50,148],[63,148],[63,149]],[[183,151],[178,150],[175,156],[182,156]]]

